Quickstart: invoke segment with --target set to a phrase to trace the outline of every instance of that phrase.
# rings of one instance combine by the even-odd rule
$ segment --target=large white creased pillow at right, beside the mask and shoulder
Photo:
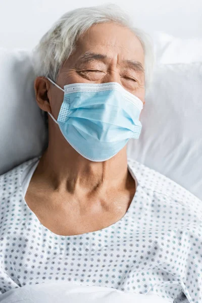
[[[202,199],[202,63],[157,65],[128,154]]]

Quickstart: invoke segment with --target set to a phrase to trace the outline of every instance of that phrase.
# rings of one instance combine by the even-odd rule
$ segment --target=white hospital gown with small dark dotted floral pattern
[[[0,293],[27,284],[71,281],[154,293],[175,303],[202,302],[198,198],[128,160],[137,188],[126,214],[98,231],[57,235],[40,223],[24,199],[23,180],[27,174],[30,180],[39,159],[0,176]]]

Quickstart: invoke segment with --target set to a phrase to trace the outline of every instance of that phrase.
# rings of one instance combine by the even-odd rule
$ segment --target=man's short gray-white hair
[[[57,81],[59,70],[75,49],[82,33],[93,24],[115,22],[132,30],[140,40],[144,52],[145,89],[153,77],[153,43],[143,30],[134,28],[130,17],[117,5],[79,8],[64,14],[41,38],[33,50],[36,76],[49,77]]]

